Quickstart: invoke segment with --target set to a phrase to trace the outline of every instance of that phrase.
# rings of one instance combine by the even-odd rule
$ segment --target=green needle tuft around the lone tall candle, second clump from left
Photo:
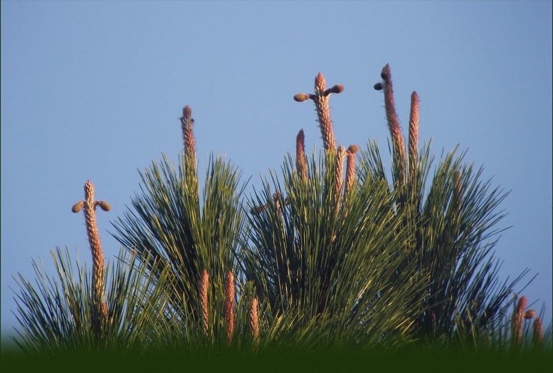
[[[202,333],[199,282],[204,269],[210,275],[209,338],[215,342],[224,334],[225,274],[235,271],[244,222],[239,177],[232,165],[212,158],[200,200],[195,164],[183,156],[175,166],[163,157],[141,173],[142,193],[114,224],[114,237],[125,248],[170,268],[171,304],[160,323],[180,337],[199,341]]]

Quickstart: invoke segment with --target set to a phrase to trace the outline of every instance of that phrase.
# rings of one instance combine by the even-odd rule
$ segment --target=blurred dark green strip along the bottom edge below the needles
[[[26,356],[8,348],[2,372],[547,372],[551,352],[470,352],[424,349],[360,352],[336,348],[246,352],[198,350],[165,354]]]

